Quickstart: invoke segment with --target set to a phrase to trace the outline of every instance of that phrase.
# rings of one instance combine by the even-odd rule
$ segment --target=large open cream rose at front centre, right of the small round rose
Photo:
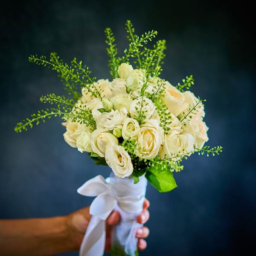
[[[151,159],[157,156],[160,145],[163,143],[163,128],[155,119],[144,120],[137,138],[137,149],[134,151],[138,157]]]

